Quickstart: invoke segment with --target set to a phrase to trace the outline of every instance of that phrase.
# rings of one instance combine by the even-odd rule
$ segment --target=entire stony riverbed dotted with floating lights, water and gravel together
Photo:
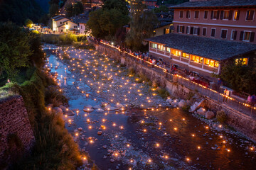
[[[255,169],[255,143],[171,108],[107,56],[45,51],[75,113],[65,126],[100,169]]]

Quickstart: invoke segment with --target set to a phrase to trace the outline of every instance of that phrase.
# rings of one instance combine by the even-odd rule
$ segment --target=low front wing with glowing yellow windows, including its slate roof
[[[231,42],[200,36],[169,33],[148,38],[149,55],[174,65],[177,69],[195,72],[214,81],[212,73],[220,74],[221,64],[227,60],[242,60],[252,64],[256,57],[256,45]]]

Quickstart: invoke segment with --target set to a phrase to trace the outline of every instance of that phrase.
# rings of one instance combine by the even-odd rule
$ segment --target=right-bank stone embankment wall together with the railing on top
[[[151,64],[143,62],[143,60],[138,60],[127,53],[120,52],[117,49],[114,49],[107,45],[96,45],[96,50],[104,53],[108,57],[112,58],[124,64],[127,68],[133,67],[137,73],[141,72],[142,74],[146,74],[146,76],[151,81],[159,81],[160,86],[166,88],[171,95],[176,97],[183,97],[192,92],[201,94],[206,101],[204,104],[210,108],[210,110],[215,113],[220,110],[224,110],[228,115],[228,125],[233,126],[235,130],[242,132],[244,135],[249,137],[251,140],[256,141],[256,119],[255,116],[251,116],[250,108],[242,108],[242,104],[239,106],[239,109],[247,109],[248,115],[242,113],[237,109],[238,107],[234,107],[232,104],[233,101],[228,101],[228,103],[222,103],[223,96],[214,91],[210,91],[209,89],[203,88],[199,84],[194,84],[192,81],[187,81],[182,77],[176,77],[171,74],[163,72],[162,69],[158,69]],[[228,104],[231,105],[228,106]]]

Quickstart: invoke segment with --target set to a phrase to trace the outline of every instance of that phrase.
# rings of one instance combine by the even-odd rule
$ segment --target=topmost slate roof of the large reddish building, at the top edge
[[[211,0],[211,1],[188,1],[169,8],[205,8],[205,7],[232,7],[232,6],[256,6],[255,0]]]

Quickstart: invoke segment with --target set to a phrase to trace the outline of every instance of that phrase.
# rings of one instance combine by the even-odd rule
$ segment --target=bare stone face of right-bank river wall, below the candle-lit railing
[[[175,79],[170,80],[167,75],[159,74],[156,70],[146,67],[144,64],[139,64],[135,62],[129,57],[125,57],[122,52],[118,50],[114,50],[111,47],[107,47],[105,45],[95,45],[96,50],[99,52],[104,53],[108,57],[112,58],[113,60],[121,62],[129,67],[134,67],[136,72],[142,72],[146,74],[146,76],[151,81],[159,81],[160,86],[166,88],[167,91],[172,96],[186,98],[189,92],[194,92],[191,89],[186,88],[185,86],[176,83]],[[228,125],[235,128],[239,132],[242,132],[244,135],[249,137],[251,140],[256,141],[256,120],[250,118],[250,116],[240,113],[239,111],[234,110],[218,101],[215,101],[211,98],[205,97],[206,100],[203,103],[203,106],[207,106],[212,111],[220,111],[224,110],[225,113],[228,115]]]

